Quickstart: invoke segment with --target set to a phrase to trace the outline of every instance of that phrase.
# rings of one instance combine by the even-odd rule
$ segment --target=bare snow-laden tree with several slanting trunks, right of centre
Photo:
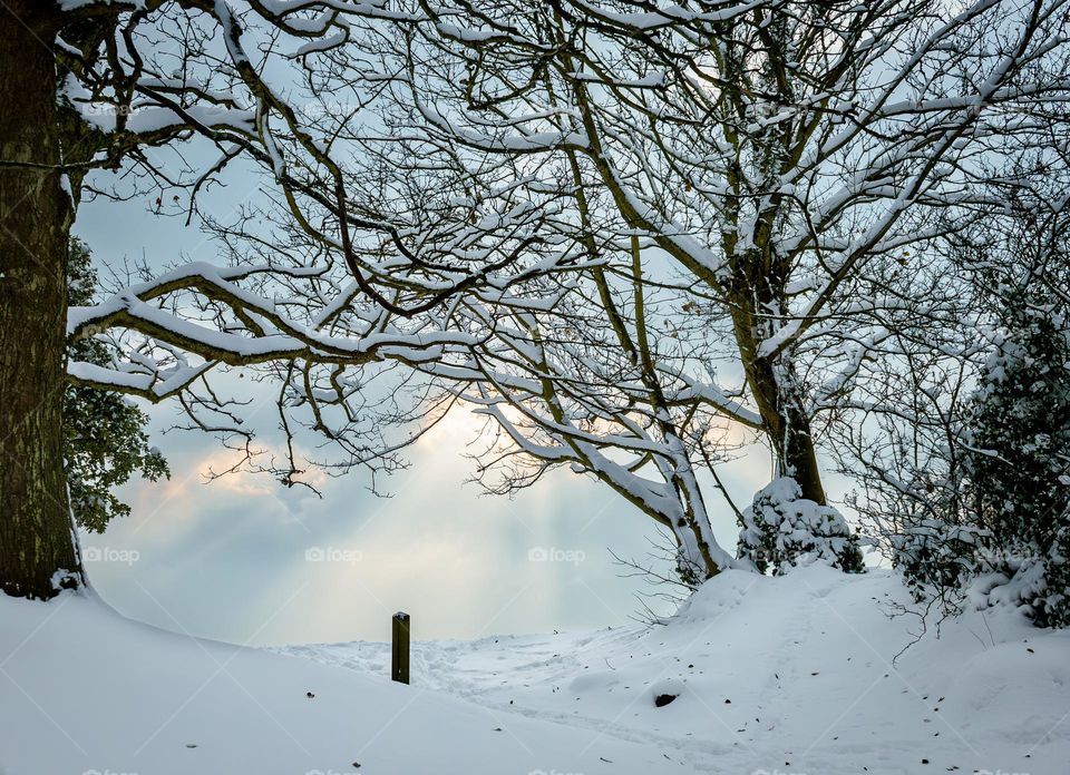
[[[395,73],[395,131],[451,149],[458,182],[508,169],[582,262],[464,300],[494,336],[427,367],[502,430],[493,489],[597,477],[699,580],[747,565],[709,527],[729,433],[826,507],[818,434],[862,403],[872,353],[940,316],[905,290],[912,256],[988,196],[991,154],[1059,120],[1068,8],[414,2],[354,36]]]

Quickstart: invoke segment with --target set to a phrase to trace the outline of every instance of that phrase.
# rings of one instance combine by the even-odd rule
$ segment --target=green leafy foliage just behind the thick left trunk
[[[93,302],[97,274],[88,248],[71,241],[68,266],[68,302]],[[108,365],[105,345],[88,339],[76,342],[68,359]],[[116,517],[129,514],[130,507],[111,489],[134,473],[156,481],[169,477],[167,461],[149,447],[145,433],[147,415],[119,393],[68,385],[64,395],[65,458],[70,506],[78,524],[104,532]]]

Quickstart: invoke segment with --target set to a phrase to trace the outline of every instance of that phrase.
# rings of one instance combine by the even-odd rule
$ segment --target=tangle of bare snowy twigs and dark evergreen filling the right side
[[[936,314],[869,366],[839,438],[866,530],[945,611],[1009,601],[1067,624],[1068,148],[1009,165],[984,217],[928,255]]]

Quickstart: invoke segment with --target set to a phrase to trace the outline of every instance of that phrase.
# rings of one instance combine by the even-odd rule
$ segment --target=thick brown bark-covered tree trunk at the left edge
[[[55,8],[0,11],[0,589],[41,599],[81,582],[64,474],[71,207],[56,167]]]

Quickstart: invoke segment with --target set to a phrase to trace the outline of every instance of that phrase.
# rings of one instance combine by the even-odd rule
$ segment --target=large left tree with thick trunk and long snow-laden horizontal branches
[[[49,598],[81,582],[64,468],[68,384],[175,399],[189,426],[252,454],[247,402],[210,379],[254,370],[279,386],[288,441],[282,462],[263,468],[286,484],[310,464],[293,443],[295,423],[327,434],[343,469],[392,465],[412,436],[388,439],[388,426],[412,405],[436,414],[437,393],[426,381],[406,391],[393,380],[378,393],[368,383],[470,345],[471,334],[432,314],[458,294],[504,293],[522,259],[553,266],[554,256],[517,251],[532,245],[517,232],[541,217],[532,202],[514,202],[498,220],[512,242],[487,244],[489,227],[401,213],[396,192],[354,173],[357,156],[403,147],[389,134],[369,137],[382,73],[339,66],[332,53],[357,12],[397,16],[335,0],[16,0],[0,13],[4,592]],[[193,149],[188,158],[179,145]],[[200,195],[235,164],[266,189],[266,204],[242,213],[263,226],[255,234],[200,209]],[[377,195],[368,206],[366,192]],[[67,314],[70,226],[87,196],[149,196],[157,212],[214,228],[227,261],[132,277]],[[97,344],[82,347],[87,339]]]

